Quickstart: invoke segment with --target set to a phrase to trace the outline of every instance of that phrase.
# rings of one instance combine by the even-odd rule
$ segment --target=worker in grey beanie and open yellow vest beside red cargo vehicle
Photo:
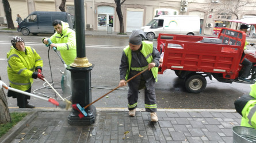
[[[136,113],[139,90],[145,91],[145,108],[150,112],[151,121],[158,121],[156,114],[155,82],[157,82],[160,53],[152,42],[143,41],[146,34],[140,29],[133,30],[129,36],[129,45],[124,48],[120,64],[119,86],[126,86],[129,78],[148,69],[128,82],[128,109],[129,116]]]

